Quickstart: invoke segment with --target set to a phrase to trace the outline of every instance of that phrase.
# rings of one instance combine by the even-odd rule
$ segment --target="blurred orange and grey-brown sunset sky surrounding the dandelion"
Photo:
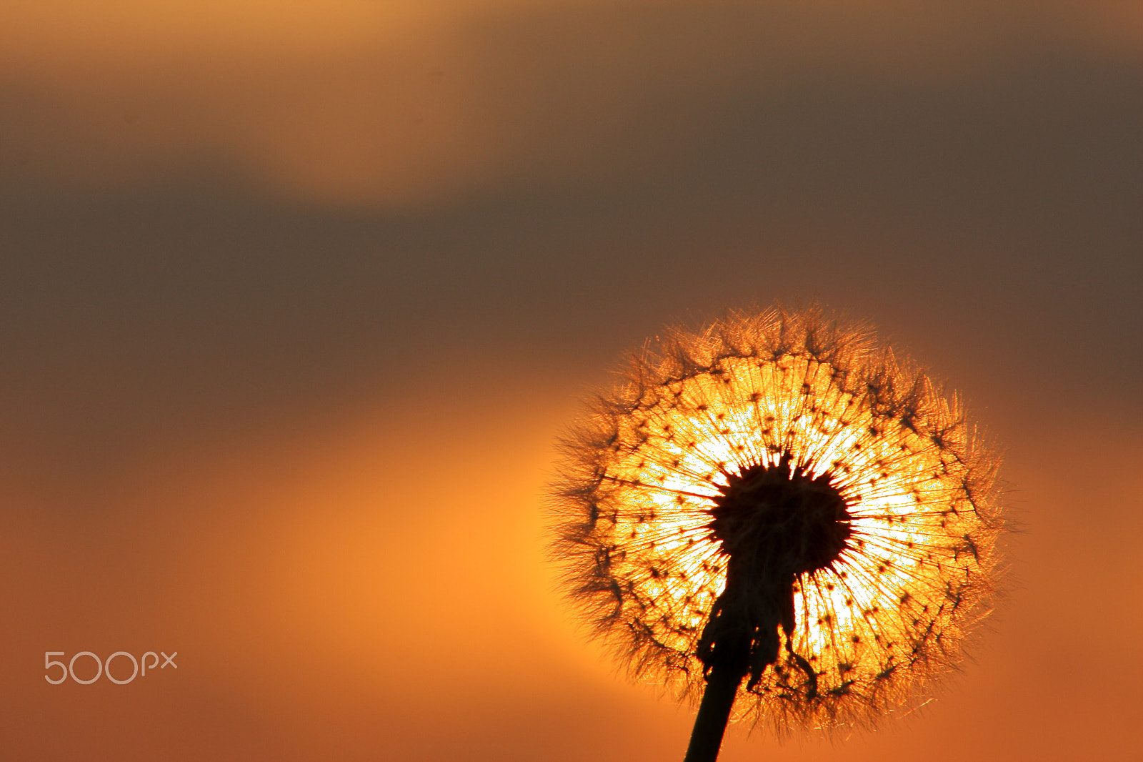
[[[0,746],[681,759],[553,592],[552,444],[662,325],[817,300],[1023,531],[922,712],[721,759],[1137,759],[1141,135],[1141,2],[5,0]]]

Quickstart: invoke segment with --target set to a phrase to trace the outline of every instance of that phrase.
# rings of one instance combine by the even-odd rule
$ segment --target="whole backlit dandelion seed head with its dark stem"
[[[633,357],[563,442],[553,545],[637,677],[778,735],[871,725],[961,656],[993,592],[997,455],[912,364],[818,310]]]

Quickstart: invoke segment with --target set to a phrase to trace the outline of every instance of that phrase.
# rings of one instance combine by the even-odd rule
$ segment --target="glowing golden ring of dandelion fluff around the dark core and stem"
[[[781,658],[740,688],[756,717],[833,725],[905,703],[990,587],[992,461],[956,402],[853,331],[769,313],[674,336],[568,450],[578,515],[557,549],[572,594],[632,672],[682,694],[701,691],[727,585],[712,509],[750,468],[824,477],[848,517],[837,557],[793,580]]]

